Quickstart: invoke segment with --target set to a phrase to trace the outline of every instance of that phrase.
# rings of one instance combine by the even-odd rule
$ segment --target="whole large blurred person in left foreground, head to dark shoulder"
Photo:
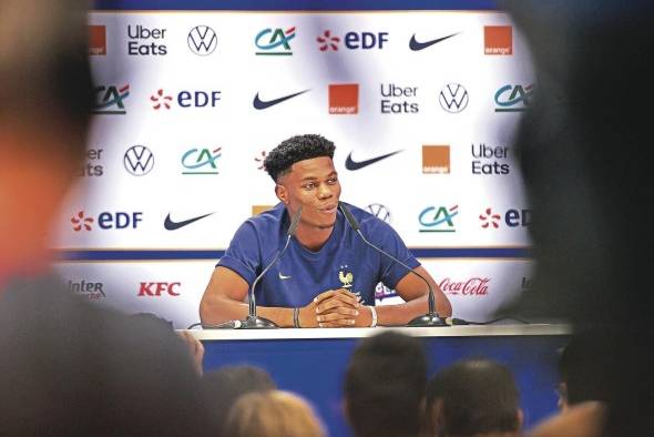
[[[48,273],[93,98],[85,6],[0,0],[0,435],[206,435],[174,331],[94,307]]]

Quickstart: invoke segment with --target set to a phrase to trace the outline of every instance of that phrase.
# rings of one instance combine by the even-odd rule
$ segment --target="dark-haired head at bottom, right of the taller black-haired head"
[[[427,386],[426,436],[517,437],[520,395],[511,370],[490,359],[464,359]]]

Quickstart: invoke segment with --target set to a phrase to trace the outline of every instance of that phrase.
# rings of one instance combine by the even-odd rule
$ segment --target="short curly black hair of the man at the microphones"
[[[277,182],[290,171],[290,166],[299,161],[314,157],[334,157],[336,146],[325,136],[316,134],[295,135],[283,141],[268,153],[264,161],[266,172]]]

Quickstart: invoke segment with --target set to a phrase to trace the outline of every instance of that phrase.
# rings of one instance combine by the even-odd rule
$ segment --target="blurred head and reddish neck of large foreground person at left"
[[[0,0],[0,284],[47,265],[47,231],[84,155],[86,2]]]

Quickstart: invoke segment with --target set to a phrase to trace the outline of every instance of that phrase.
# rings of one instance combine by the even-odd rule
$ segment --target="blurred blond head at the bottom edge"
[[[289,392],[242,396],[229,411],[224,435],[229,437],[324,437],[311,406]]]

